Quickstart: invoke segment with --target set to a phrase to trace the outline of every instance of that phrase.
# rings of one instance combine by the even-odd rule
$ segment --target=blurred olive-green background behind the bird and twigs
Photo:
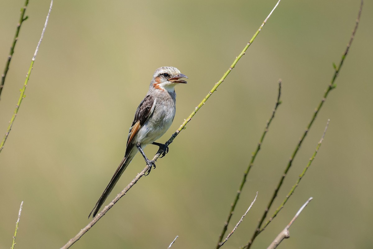
[[[0,70],[24,0],[0,1]],[[49,0],[31,0],[0,101],[4,134]],[[26,98],[0,155],[0,248],[60,248],[87,216],[125,151],[128,128],[160,66],[176,87],[170,135],[210,91],[276,1],[55,1]],[[225,248],[251,237],[288,159],[339,63],[358,0],[282,1],[246,55],[158,160],[72,248],[214,248],[242,173],[280,105],[228,230],[258,199]],[[372,1],[366,1],[337,88],[322,108],[276,199],[282,202],[329,130],[311,168],[253,248],[266,248],[310,197],[280,248],[372,248]],[[1,135],[3,136],[3,135]],[[145,152],[154,155],[156,146]],[[112,200],[144,168],[137,155]],[[106,204],[108,201],[106,202]]]

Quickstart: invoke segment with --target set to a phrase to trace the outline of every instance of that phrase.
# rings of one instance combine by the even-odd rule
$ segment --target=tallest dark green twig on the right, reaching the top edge
[[[352,44],[352,41],[354,40],[355,32],[356,32],[356,30],[357,30],[357,27],[358,27],[358,24],[359,24],[359,21],[360,21],[360,15],[361,15],[361,10],[362,10],[362,8],[363,8],[363,0],[361,1],[361,4],[360,4],[360,9],[359,9],[358,17],[357,17],[357,19],[356,19],[355,27],[354,27],[354,29],[352,30],[352,35],[351,35],[350,41],[348,42],[348,44],[347,44],[347,48],[346,48],[344,54],[342,55],[342,59],[341,59],[341,61],[339,62],[339,66],[337,67],[337,66],[333,63],[333,67],[334,67],[334,69],[335,69],[335,72],[334,72],[334,75],[333,75],[333,77],[332,77],[332,80],[331,80],[330,84],[328,85],[328,87],[327,87],[327,89],[326,89],[326,91],[325,91],[325,94],[324,94],[324,96],[323,96],[323,99],[322,99],[321,102],[319,103],[319,106],[317,106],[317,108],[316,108],[316,110],[315,110],[315,112],[314,112],[314,114],[313,114],[313,117],[312,117],[310,123],[308,124],[307,128],[305,129],[305,131],[304,131],[304,133],[303,133],[303,136],[301,137],[301,139],[299,140],[299,142],[298,142],[298,144],[297,144],[297,147],[295,147],[295,150],[294,150],[294,152],[293,152],[292,155],[291,155],[291,158],[290,158],[290,160],[289,160],[289,162],[288,162],[288,165],[286,166],[285,171],[284,171],[284,173],[282,174],[282,176],[281,176],[281,178],[280,178],[280,181],[279,181],[279,183],[278,183],[278,186],[276,187],[275,192],[273,193],[273,196],[272,196],[270,202],[268,203],[268,206],[267,206],[267,208],[265,209],[265,211],[264,211],[264,213],[263,213],[263,216],[261,217],[261,219],[260,219],[260,221],[259,221],[259,223],[258,223],[258,226],[257,226],[256,230],[254,231],[253,236],[251,237],[251,240],[249,240],[249,242],[248,242],[246,245],[244,245],[243,248],[247,248],[247,249],[249,249],[249,248],[251,247],[251,245],[253,244],[254,239],[258,236],[259,231],[260,231],[260,228],[261,228],[261,225],[263,224],[264,219],[267,217],[267,213],[268,213],[269,209],[271,208],[271,206],[272,206],[272,204],[273,204],[273,202],[274,202],[274,200],[275,200],[275,198],[276,198],[276,196],[277,196],[277,193],[278,193],[279,190],[280,190],[280,187],[282,186],[283,180],[284,180],[284,178],[286,177],[286,174],[288,173],[288,171],[289,171],[289,169],[290,169],[290,167],[291,167],[291,165],[292,165],[292,162],[293,162],[293,160],[294,160],[294,157],[297,155],[297,152],[298,152],[298,150],[300,149],[301,144],[303,143],[303,140],[304,140],[305,136],[307,135],[307,133],[308,133],[308,131],[310,130],[310,128],[311,128],[313,122],[315,121],[316,116],[317,116],[317,114],[319,113],[320,109],[322,108],[322,106],[323,106],[323,104],[324,104],[324,102],[325,102],[325,100],[326,100],[326,97],[328,96],[329,92],[330,92],[331,90],[333,90],[333,89],[336,87],[336,85],[335,85],[335,80],[336,80],[336,78],[337,78],[337,76],[338,76],[338,73],[339,73],[339,71],[341,70],[342,64],[343,64],[343,62],[344,62],[344,60],[345,60],[345,58],[346,58],[346,56],[347,56],[347,54],[348,54],[348,50],[350,49],[350,46],[351,46],[351,44]]]

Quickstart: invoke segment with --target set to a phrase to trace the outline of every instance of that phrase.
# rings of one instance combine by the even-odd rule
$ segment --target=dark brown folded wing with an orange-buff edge
[[[146,96],[138,106],[135,112],[134,122],[132,122],[131,128],[129,128],[128,133],[128,140],[127,140],[127,147],[128,144],[132,142],[142,125],[145,124],[147,119],[153,113],[155,107],[154,97],[148,95]]]

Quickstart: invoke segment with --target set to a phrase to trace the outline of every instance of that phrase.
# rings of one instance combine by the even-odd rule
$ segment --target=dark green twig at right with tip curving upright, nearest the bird
[[[238,202],[238,199],[239,199],[239,196],[241,194],[241,191],[242,189],[244,188],[244,185],[246,183],[246,178],[247,178],[247,175],[251,169],[251,167],[254,165],[254,161],[255,161],[255,158],[260,150],[260,147],[261,147],[261,144],[263,143],[263,140],[264,140],[264,137],[266,136],[267,132],[268,132],[268,128],[269,128],[269,125],[271,124],[272,122],[272,119],[275,117],[275,113],[277,111],[277,108],[278,106],[281,104],[281,101],[280,101],[280,97],[281,97],[281,80],[279,80],[279,90],[278,90],[278,96],[277,96],[277,100],[276,100],[276,104],[275,104],[275,108],[273,109],[272,111],[272,116],[270,117],[270,119],[267,121],[266,123],[266,127],[264,128],[264,131],[263,131],[263,134],[261,135],[261,138],[259,140],[259,143],[258,143],[258,146],[257,146],[257,149],[255,150],[255,152],[253,153],[253,155],[251,155],[251,161],[248,165],[248,168],[246,169],[246,171],[244,172],[244,177],[242,178],[242,181],[241,181],[241,184],[239,186],[239,189],[237,191],[237,194],[236,194],[236,197],[235,197],[235,200],[234,202],[232,203],[231,205],[231,210],[229,211],[229,214],[228,214],[228,218],[227,220],[225,221],[224,223],[224,227],[223,227],[223,230],[222,230],[222,233],[220,233],[220,237],[219,237],[219,241],[217,242],[217,245],[216,245],[216,249],[220,248],[220,246],[222,246],[222,240],[224,238],[224,234],[226,233],[227,231],[227,228],[228,228],[228,224],[229,222],[231,221],[231,218],[232,218],[232,215],[233,215],[233,212],[234,212],[234,209],[237,205],[237,202]]]

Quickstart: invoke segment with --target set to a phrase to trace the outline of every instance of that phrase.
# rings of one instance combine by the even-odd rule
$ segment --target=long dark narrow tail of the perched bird
[[[132,161],[132,158],[134,158],[133,153],[129,153],[129,155],[126,155],[123,158],[122,162],[120,162],[120,164],[119,164],[118,168],[116,169],[112,179],[110,180],[109,184],[107,184],[104,192],[101,194],[100,199],[98,199],[96,205],[94,206],[94,208],[90,212],[90,215],[88,215],[88,218],[90,218],[91,215],[92,215],[92,218],[94,218],[96,216],[96,214],[98,213],[98,211],[100,211],[100,208],[103,205],[103,203],[105,202],[107,196],[109,196],[110,192],[112,192],[112,190],[113,190],[115,184],[117,183],[117,181],[119,180],[120,176],[123,174],[123,172],[127,168],[128,164]]]

